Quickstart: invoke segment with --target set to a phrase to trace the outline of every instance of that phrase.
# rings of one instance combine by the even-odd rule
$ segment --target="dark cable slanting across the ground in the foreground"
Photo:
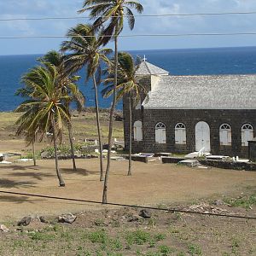
[[[26,196],[32,196],[32,197],[63,200],[63,201],[79,201],[79,202],[102,205],[102,202],[100,202],[100,201],[89,201],[89,200],[74,199],[74,198],[67,198],[67,197],[58,197],[58,196],[49,196],[49,195],[35,195],[35,194],[27,194],[27,193],[19,193],[19,192],[11,192],[11,191],[2,191],[2,190],[0,190],[0,193],[9,194],[9,195],[26,195]],[[141,208],[141,209],[148,209],[148,210],[155,210],[155,211],[182,212],[182,213],[189,213],[189,214],[201,214],[201,215],[217,216],[217,217],[244,218],[244,219],[256,220],[256,217],[233,215],[233,214],[212,213],[212,212],[194,212],[194,211],[182,210],[182,209],[176,209],[176,208],[143,207],[143,206],[121,204],[121,203],[105,203],[103,205],[114,206],[114,207],[131,207],[131,208]]]

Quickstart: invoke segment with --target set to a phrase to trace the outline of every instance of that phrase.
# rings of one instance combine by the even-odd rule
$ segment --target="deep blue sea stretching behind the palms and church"
[[[146,55],[148,62],[162,67],[173,75],[249,74],[256,73],[256,47],[215,49],[161,49],[131,51],[134,56]],[[41,55],[0,56],[0,111],[14,110],[22,98],[15,90],[22,87],[20,77],[37,64]],[[80,73],[83,76],[83,73]],[[86,107],[94,107],[91,82],[79,81],[86,97]],[[109,108],[111,99],[100,98],[100,107]],[[119,102],[118,108],[122,105]]]

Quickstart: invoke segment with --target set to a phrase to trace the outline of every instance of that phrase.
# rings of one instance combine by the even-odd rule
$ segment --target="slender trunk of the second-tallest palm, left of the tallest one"
[[[100,181],[104,181],[103,157],[102,157],[102,131],[101,131],[101,124],[100,124],[100,116],[99,116],[98,88],[97,88],[97,84],[96,84],[95,74],[93,75],[93,84],[94,84],[94,91],[95,91],[96,120],[97,120],[99,150],[100,150],[100,166],[101,166]]]

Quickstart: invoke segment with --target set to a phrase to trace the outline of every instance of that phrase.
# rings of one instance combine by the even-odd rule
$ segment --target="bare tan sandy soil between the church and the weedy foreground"
[[[58,186],[54,160],[0,166],[0,188],[39,195],[55,195],[90,201],[102,200],[98,160],[78,160],[73,172],[71,160],[61,160],[65,188]],[[220,169],[191,169],[160,163],[133,164],[133,175],[126,176],[127,161],[113,161],[108,188],[108,201],[134,205],[191,203],[201,198],[237,195],[255,186],[256,172]],[[94,206],[93,206],[94,207]],[[91,209],[90,204],[54,201],[0,193],[0,221],[27,214],[58,214]]]

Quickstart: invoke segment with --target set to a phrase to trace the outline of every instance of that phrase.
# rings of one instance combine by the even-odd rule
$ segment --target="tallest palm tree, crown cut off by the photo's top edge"
[[[135,17],[131,9],[136,9],[139,14],[143,13],[143,5],[137,1],[127,0],[85,0],[83,9],[90,11],[90,18],[95,20],[93,26],[98,29],[105,25],[102,31],[102,44],[108,44],[113,38],[114,41],[114,83],[113,83],[113,102],[110,109],[109,131],[108,131],[108,164],[105,175],[105,182],[102,194],[102,203],[107,203],[108,194],[108,176],[110,171],[110,154],[112,148],[112,133],[113,133],[113,112],[116,105],[116,87],[118,84],[118,37],[124,27],[124,18],[126,16],[130,29],[135,25]]]

